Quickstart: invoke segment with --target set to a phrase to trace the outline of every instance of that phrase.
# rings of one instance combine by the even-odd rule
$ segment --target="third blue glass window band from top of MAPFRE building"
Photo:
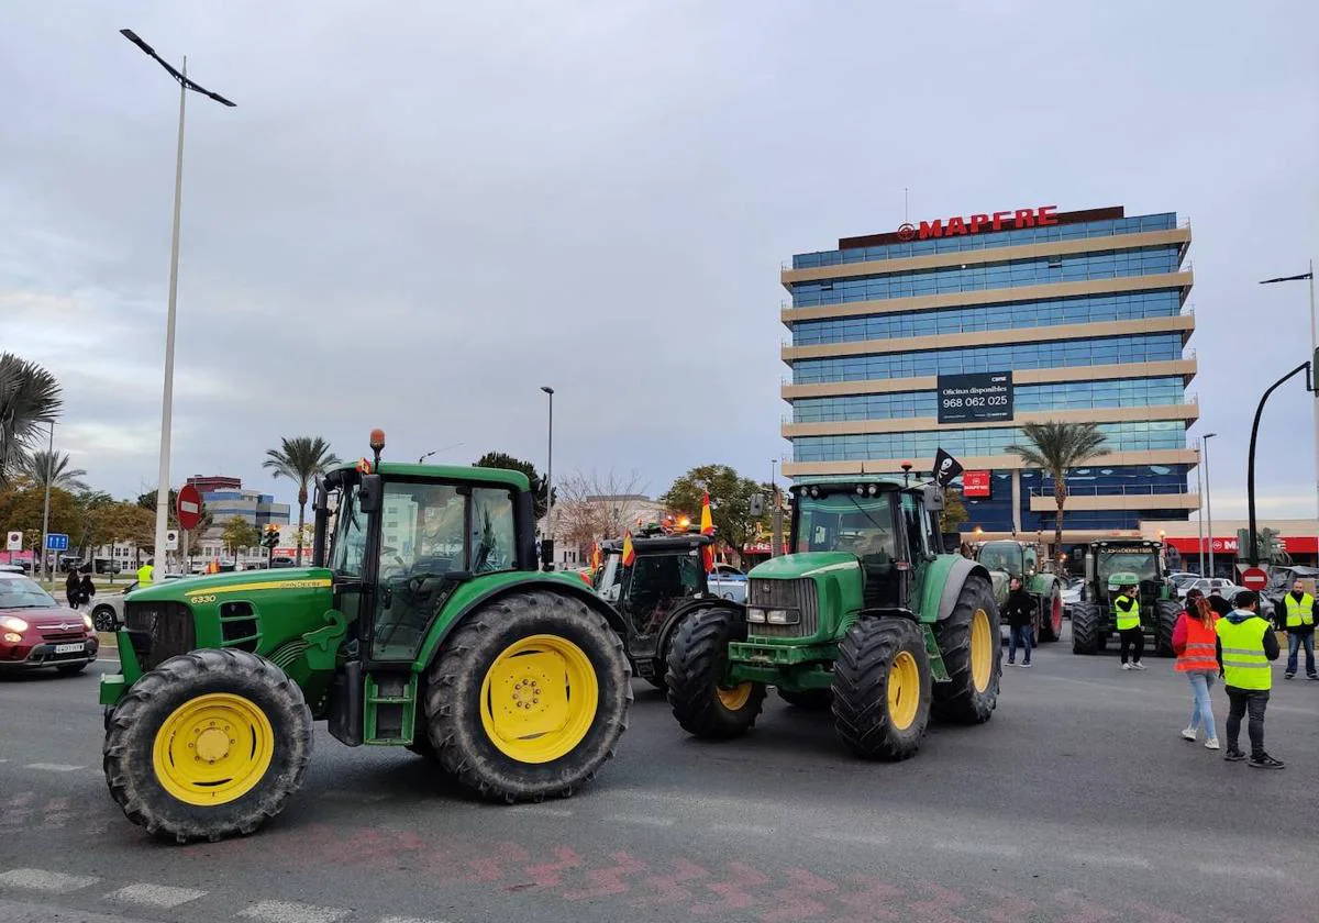
[[[1142,318],[1173,318],[1182,313],[1178,291],[1128,291],[1092,298],[1046,298],[935,311],[868,314],[859,318],[797,320],[793,345],[892,340],[935,334],[971,334],[981,330],[1057,327],[1068,323],[1105,323]]]

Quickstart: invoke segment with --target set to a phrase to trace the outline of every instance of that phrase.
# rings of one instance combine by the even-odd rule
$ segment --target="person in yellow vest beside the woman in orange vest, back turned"
[[[1264,750],[1264,711],[1269,705],[1273,688],[1273,667],[1278,659],[1278,636],[1273,626],[1256,610],[1260,597],[1249,589],[1239,592],[1235,607],[1213,625],[1215,655],[1223,670],[1223,686],[1228,692],[1228,752],[1229,762],[1245,759],[1237,741],[1241,737],[1241,719],[1250,715],[1250,766],[1253,769],[1282,769],[1282,761]]]

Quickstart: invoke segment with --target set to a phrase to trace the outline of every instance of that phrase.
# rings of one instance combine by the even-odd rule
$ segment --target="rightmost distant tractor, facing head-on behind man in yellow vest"
[[[1163,570],[1163,545],[1141,539],[1111,539],[1086,546],[1086,583],[1072,605],[1072,653],[1097,654],[1117,633],[1113,597],[1134,585],[1141,601],[1141,629],[1158,657],[1173,657],[1173,629],[1182,613],[1173,583]]]

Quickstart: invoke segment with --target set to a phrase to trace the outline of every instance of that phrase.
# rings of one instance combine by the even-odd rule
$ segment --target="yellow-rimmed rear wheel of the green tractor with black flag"
[[[952,614],[935,622],[934,640],[950,676],[934,687],[934,717],[959,724],[988,721],[998,704],[1002,646],[997,643],[998,607],[983,579],[967,578]]]

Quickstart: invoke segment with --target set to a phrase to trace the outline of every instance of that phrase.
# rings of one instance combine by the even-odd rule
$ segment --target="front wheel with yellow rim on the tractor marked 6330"
[[[302,690],[264,657],[195,650],[133,683],[106,716],[109,794],[178,843],[255,832],[284,810],[311,758]]]

